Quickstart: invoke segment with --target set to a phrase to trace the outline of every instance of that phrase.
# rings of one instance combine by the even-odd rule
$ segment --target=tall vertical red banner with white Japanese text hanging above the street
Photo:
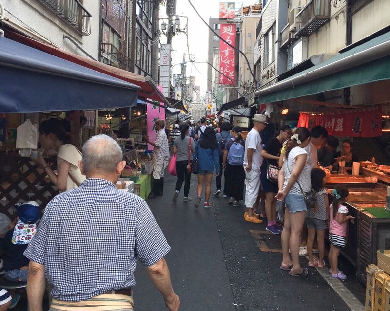
[[[235,24],[221,24],[220,36],[235,47]],[[234,85],[235,50],[219,40],[219,84]],[[223,74],[222,74],[223,73]]]

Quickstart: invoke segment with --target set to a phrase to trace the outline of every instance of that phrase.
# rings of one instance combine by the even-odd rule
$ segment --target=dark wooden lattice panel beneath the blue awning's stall
[[[30,158],[0,155],[0,213],[13,220],[15,204],[27,201],[36,201],[43,211],[58,194],[58,189],[45,176],[45,171]]]

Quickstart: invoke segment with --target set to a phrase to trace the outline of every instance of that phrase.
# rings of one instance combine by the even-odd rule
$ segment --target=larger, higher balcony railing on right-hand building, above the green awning
[[[296,36],[309,36],[331,18],[328,0],[311,0],[296,16]]]

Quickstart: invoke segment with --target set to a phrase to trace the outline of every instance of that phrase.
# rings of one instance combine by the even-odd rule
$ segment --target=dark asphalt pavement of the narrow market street
[[[243,207],[227,204],[222,195],[213,197],[214,181],[211,209],[202,204],[196,209],[193,201],[182,202],[182,194],[173,203],[176,177],[165,174],[164,181],[164,196],[147,202],[171,246],[166,260],[180,310],[364,310],[365,288],[342,257],[340,267],[348,275],[346,281],[331,278],[328,268],[317,268],[334,289],[316,268],[309,268],[307,277],[291,277],[279,269],[280,236],[269,234],[264,223],[245,222]],[[193,175],[192,198],[195,189]],[[308,260],[300,258],[307,267]],[[141,265],[136,280],[135,310],[166,310]]]

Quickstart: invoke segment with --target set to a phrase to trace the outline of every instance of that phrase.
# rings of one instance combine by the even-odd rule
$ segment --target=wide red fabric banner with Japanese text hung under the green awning
[[[349,110],[339,113],[301,112],[298,127],[309,130],[317,125],[327,129],[329,135],[345,137],[382,136],[382,109]]]

